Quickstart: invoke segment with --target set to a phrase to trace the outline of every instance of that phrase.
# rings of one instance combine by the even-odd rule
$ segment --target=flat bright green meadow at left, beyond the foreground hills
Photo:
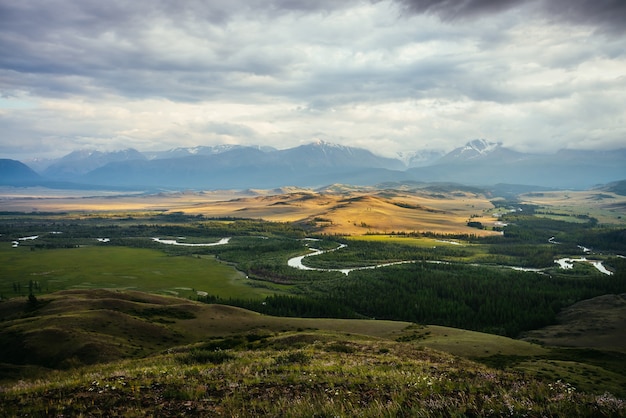
[[[206,292],[222,298],[263,298],[280,293],[252,287],[245,275],[210,256],[168,256],[151,249],[107,245],[31,251],[29,247],[0,247],[0,293],[36,295],[64,289],[134,289],[196,298]],[[16,290],[16,285],[19,289]]]

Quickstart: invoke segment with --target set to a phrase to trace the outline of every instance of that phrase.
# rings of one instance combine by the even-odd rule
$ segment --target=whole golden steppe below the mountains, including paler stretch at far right
[[[325,189],[218,190],[162,193],[103,193],[0,188],[0,211],[105,213],[183,212],[208,218],[262,219],[314,226],[340,235],[434,232],[499,234],[492,196],[448,188],[382,189],[333,185]],[[626,222],[626,196],[598,191],[551,191],[519,196],[540,216],[601,224]],[[500,209],[499,211],[502,211]],[[467,226],[481,222],[486,229]]]

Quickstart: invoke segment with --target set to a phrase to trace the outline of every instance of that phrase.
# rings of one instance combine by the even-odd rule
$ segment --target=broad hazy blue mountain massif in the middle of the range
[[[236,147],[210,155],[111,163],[87,173],[83,181],[173,188],[317,187],[398,179],[402,172],[387,168],[394,165],[401,163],[366,150],[326,143],[273,152]]]

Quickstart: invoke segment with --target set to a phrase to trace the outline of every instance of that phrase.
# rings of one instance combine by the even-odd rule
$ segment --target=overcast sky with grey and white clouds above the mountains
[[[624,0],[0,0],[0,158],[626,147]]]

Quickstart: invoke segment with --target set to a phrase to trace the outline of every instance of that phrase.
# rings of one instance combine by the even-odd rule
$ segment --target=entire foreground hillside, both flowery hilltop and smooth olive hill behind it
[[[444,327],[107,290],[14,299],[0,316],[3,416],[626,415],[608,393],[623,387],[619,369]],[[512,358],[519,366],[494,368]],[[603,386],[529,366],[561,363]]]

